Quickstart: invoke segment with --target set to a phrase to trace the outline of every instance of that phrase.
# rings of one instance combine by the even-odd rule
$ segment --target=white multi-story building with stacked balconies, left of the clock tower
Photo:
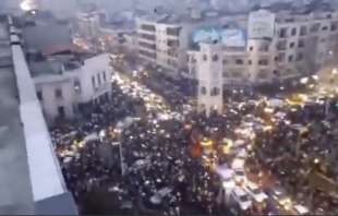
[[[245,25],[243,16],[221,16],[216,11],[191,10],[190,14],[152,14],[136,19],[138,57],[145,62],[161,67],[168,74],[188,71],[188,53],[195,28],[230,23],[237,20]],[[171,72],[171,73],[170,73]]]

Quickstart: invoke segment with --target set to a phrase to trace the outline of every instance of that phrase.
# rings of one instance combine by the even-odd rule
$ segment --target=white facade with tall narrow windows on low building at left
[[[34,76],[37,96],[49,122],[57,117],[73,118],[86,104],[108,100],[111,94],[108,53],[87,58],[82,63],[72,62],[71,67],[69,63],[61,64],[59,73],[43,71]],[[34,73],[34,67],[31,70]]]

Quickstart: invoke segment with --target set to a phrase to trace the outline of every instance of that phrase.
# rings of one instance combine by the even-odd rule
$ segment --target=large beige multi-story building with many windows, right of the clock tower
[[[221,43],[224,83],[282,82],[316,72],[337,56],[337,25],[335,11],[251,12],[244,46]],[[201,51],[189,51],[189,73],[195,77]]]

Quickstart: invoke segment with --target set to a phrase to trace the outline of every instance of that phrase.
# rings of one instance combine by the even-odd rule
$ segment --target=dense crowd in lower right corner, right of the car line
[[[294,200],[315,214],[336,215],[338,116],[329,104],[311,101],[282,110],[285,118],[257,136],[254,152]]]

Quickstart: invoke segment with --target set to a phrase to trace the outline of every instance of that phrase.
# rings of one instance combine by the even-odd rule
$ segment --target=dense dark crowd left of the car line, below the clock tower
[[[138,117],[140,106],[142,98],[125,95],[113,83],[109,101],[93,105],[82,120],[60,121],[51,129],[80,209],[100,213],[87,209],[97,202],[88,203],[88,196],[100,196],[111,202],[110,207],[93,207],[96,211],[121,209],[129,203],[132,209],[155,215],[216,214],[219,179],[191,156],[191,128],[182,119],[134,118],[117,137],[118,122]]]

